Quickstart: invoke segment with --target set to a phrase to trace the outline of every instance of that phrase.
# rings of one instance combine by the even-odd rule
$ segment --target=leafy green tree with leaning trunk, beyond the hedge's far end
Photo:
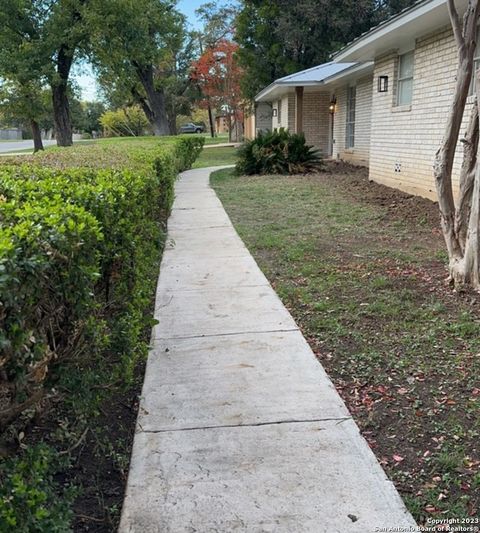
[[[165,79],[177,66],[185,17],[168,0],[92,2],[93,61],[107,96],[138,102],[155,135],[168,135]]]

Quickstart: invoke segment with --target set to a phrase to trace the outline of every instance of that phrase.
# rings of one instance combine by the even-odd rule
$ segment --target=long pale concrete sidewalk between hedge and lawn
[[[120,532],[414,531],[211,170],[177,184]]]

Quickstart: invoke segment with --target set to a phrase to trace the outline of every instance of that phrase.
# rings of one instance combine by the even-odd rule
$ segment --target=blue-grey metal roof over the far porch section
[[[290,74],[275,80],[255,96],[256,102],[274,100],[288,93],[293,87],[318,87],[327,85],[330,81],[338,80],[359,70],[371,69],[372,63],[341,63],[329,62],[308,68],[295,74]]]

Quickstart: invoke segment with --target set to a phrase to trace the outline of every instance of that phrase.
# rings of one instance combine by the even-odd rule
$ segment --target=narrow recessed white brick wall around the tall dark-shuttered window
[[[345,120],[347,114],[347,89],[335,91],[337,110],[333,125],[333,158],[343,159],[356,165],[368,166],[370,155],[370,131],[372,115],[372,75],[365,76],[354,84],[357,87],[355,106],[355,143],[345,148]]]

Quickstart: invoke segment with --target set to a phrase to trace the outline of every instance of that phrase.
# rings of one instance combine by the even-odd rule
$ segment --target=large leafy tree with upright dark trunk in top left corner
[[[84,52],[88,32],[84,14],[89,0],[2,0],[0,8],[0,77],[20,94],[34,94],[45,82],[52,95],[59,146],[72,144],[70,75]],[[19,100],[20,102],[20,100]],[[22,103],[23,106],[23,103]]]

